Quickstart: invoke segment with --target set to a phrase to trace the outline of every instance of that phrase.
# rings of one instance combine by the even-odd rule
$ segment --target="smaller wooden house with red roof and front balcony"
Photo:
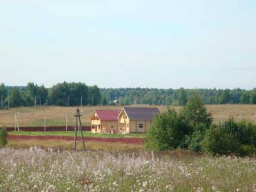
[[[117,132],[119,110],[95,110],[91,116],[92,132]]]

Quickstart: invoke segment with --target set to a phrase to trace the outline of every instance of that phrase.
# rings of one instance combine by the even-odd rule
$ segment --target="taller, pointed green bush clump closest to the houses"
[[[205,131],[211,124],[211,114],[207,113],[200,96],[193,93],[180,113],[168,109],[154,118],[147,131],[146,147],[156,150],[180,147],[200,152]]]

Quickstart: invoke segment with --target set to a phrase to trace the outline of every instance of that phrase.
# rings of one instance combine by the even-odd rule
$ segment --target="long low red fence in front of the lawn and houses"
[[[26,135],[8,135],[8,140],[60,140],[74,141],[74,137],[70,136],[26,136]],[[81,141],[81,137],[77,137]],[[85,141],[100,141],[108,143],[127,143],[127,144],[143,144],[142,138],[90,138],[86,137]]]

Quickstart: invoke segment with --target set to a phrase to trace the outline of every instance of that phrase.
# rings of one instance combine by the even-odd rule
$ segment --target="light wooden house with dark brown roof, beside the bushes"
[[[146,132],[158,108],[123,108],[118,115],[118,132]]]

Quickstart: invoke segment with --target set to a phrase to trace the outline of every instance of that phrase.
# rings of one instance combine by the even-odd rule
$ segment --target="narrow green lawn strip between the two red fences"
[[[88,131],[84,131],[84,136],[86,137],[93,137],[93,138],[144,138],[143,134],[140,133],[129,133],[129,134],[109,134],[109,133],[92,133]],[[28,131],[11,131],[8,134],[15,134],[15,135],[31,135],[31,136],[74,136],[74,131],[35,131],[35,132],[28,132]],[[77,132],[77,136],[81,136],[80,132]]]

